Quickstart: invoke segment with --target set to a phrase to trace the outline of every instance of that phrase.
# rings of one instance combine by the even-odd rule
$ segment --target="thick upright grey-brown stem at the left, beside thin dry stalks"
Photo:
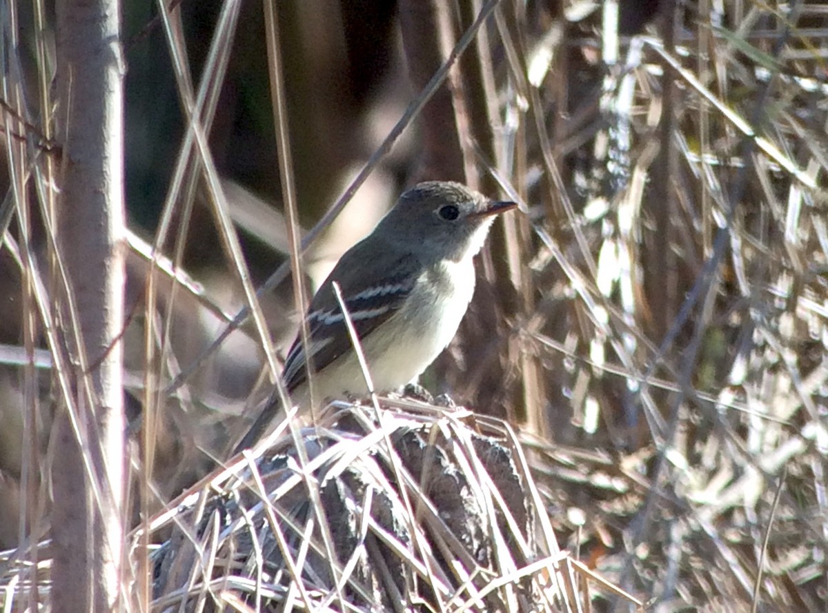
[[[59,298],[60,321],[75,394],[53,437],[52,606],[112,611],[121,586],[125,464],[120,11],[118,0],[59,0],[56,12],[57,255],[70,290]]]

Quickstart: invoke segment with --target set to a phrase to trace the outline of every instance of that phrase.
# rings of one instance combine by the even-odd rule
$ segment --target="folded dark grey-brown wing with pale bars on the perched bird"
[[[373,247],[382,244],[375,241]],[[315,372],[353,350],[333,281],[339,283],[360,340],[388,321],[412,292],[418,267],[416,256],[408,252],[394,255],[393,251],[399,250],[390,246],[377,253],[373,247],[369,252],[363,241],[347,251],[310,302],[306,319],[310,367]],[[288,391],[296,390],[307,380],[307,370],[301,338],[296,338],[282,374]]]

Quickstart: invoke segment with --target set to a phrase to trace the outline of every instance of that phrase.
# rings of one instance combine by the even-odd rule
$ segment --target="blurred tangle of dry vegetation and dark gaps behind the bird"
[[[489,4],[276,2],[302,232],[344,194]],[[4,91],[19,89],[26,103],[8,98],[3,125],[7,138],[30,138],[41,163],[56,155],[36,145],[36,43],[51,34],[36,34],[30,5],[15,6],[20,45],[10,50],[20,69],[7,63]],[[168,8],[166,26],[156,3],[123,2],[135,233],[126,367],[132,433],[147,410],[159,424],[153,509],[224,459],[239,414],[270,386],[248,322],[185,385],[166,387],[244,305],[216,210],[227,207],[236,224],[253,285],[288,258],[262,4]],[[171,41],[181,42],[180,74]],[[469,316],[426,384],[520,424],[561,546],[657,597],[657,611],[828,606],[826,54],[820,2],[504,0],[306,254],[312,288],[416,180],[464,180],[521,200],[526,214],[493,232]],[[203,80],[219,93],[205,122],[215,171],[203,154],[182,155],[183,84],[197,91]],[[23,172],[5,162],[4,191]],[[172,184],[179,164],[189,191]],[[223,197],[211,195],[210,177]],[[28,185],[25,204],[12,204],[31,208],[46,275],[40,196]],[[19,241],[10,206],[8,236]],[[152,314],[141,240],[158,242],[190,280],[174,291],[161,274]],[[27,340],[25,270],[4,245],[0,548],[17,544],[22,513],[37,524],[48,505],[43,491],[20,489],[23,411],[35,415],[47,452],[52,410],[48,371],[39,403],[26,400],[13,359]],[[290,282],[260,301],[283,349],[296,325]],[[148,317],[158,318],[150,366]],[[40,335],[31,340],[48,349]],[[147,368],[158,376],[150,406]]]

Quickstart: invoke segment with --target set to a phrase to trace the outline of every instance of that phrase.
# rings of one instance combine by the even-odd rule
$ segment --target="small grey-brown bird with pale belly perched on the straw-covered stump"
[[[494,215],[516,206],[445,181],[417,184],[402,194],[374,231],[345,251],[311,300],[310,359],[296,338],[282,372],[291,402],[301,412],[310,406],[308,366],[316,401],[368,392],[334,281],[375,390],[395,390],[426,370],[454,338],[469,306],[473,259]],[[282,417],[274,393],[236,451],[256,443]]]

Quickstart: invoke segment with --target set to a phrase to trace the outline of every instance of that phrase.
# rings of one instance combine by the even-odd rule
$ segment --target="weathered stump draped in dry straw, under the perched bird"
[[[557,548],[511,429],[390,402],[381,426],[373,408],[350,405],[315,429],[283,424],[255,463],[246,457],[157,518],[153,535],[171,531],[152,553],[157,606],[588,606],[590,573]]]

